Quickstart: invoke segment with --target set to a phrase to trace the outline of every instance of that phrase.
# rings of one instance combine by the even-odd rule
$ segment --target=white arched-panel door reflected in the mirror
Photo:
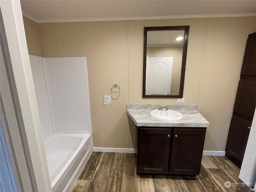
[[[168,95],[171,90],[173,57],[146,60],[146,95]]]

